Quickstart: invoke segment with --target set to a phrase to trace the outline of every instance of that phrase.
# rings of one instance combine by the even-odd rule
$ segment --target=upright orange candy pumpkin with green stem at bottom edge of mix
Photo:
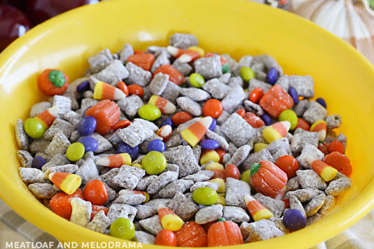
[[[231,246],[243,243],[240,228],[233,221],[218,221],[209,227],[208,246]]]

